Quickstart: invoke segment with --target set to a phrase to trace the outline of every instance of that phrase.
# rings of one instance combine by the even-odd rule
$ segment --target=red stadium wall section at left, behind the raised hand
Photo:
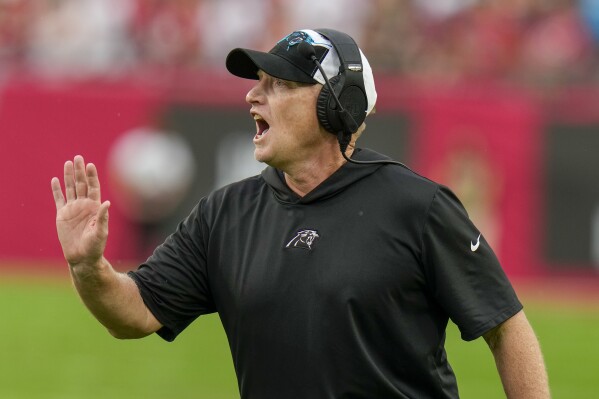
[[[111,142],[149,120],[158,102],[157,96],[124,85],[5,86],[0,96],[0,258],[61,259],[50,179],[61,177],[65,160],[75,154],[105,170]],[[111,240],[127,240],[129,230],[122,217],[111,215]]]

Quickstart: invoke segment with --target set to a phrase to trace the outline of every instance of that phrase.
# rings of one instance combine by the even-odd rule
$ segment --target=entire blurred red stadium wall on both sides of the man
[[[103,171],[111,145],[123,132],[152,123],[172,103],[219,110],[220,118],[228,112],[240,118],[247,114],[246,82],[215,76],[191,85],[193,90],[165,87],[15,79],[0,88],[0,267],[15,261],[60,262],[50,179],[62,175],[65,160],[82,154],[94,162],[103,196],[111,199]],[[426,89],[385,78],[378,87],[378,113],[401,113],[410,121],[410,165],[458,192],[508,274],[546,272],[541,149],[551,118],[547,104],[518,89]],[[567,118],[596,117],[592,109],[570,108]],[[405,144],[389,143],[394,145]],[[117,265],[142,260],[136,227],[117,206],[110,217],[107,256]]]

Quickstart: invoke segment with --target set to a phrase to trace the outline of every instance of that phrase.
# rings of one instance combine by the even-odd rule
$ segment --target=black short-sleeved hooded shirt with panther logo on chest
[[[397,165],[345,164],[304,197],[268,167],[130,275],[166,340],[219,313],[243,399],[458,397],[448,319],[471,340],[522,308],[457,198]]]

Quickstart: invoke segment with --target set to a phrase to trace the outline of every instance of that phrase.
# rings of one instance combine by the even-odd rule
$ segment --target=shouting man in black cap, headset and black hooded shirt
[[[83,301],[118,338],[173,340],[219,312],[244,399],[458,397],[449,318],[484,336],[510,398],[547,398],[538,342],[484,237],[447,188],[355,147],[372,71],[351,38],[320,32],[229,54],[230,72],[257,80],[246,99],[269,166],[202,198],[135,272],[103,257],[96,168],[66,162],[56,223]]]

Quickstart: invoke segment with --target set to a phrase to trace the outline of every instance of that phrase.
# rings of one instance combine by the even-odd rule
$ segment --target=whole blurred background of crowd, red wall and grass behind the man
[[[0,0],[0,397],[236,397],[217,316],[168,345],[91,320],[50,179],[76,154],[98,166],[107,256],[136,267],[201,196],[264,167],[227,53],[319,27],[373,67],[361,146],[458,194],[530,309],[555,397],[597,397],[597,0]],[[488,351],[458,341],[463,396],[502,397]]]

